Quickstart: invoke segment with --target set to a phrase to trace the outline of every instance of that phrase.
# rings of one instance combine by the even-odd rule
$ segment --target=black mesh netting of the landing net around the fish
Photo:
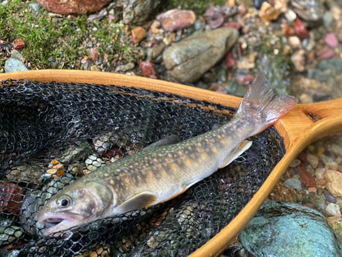
[[[234,108],[153,90],[96,84],[0,82],[0,255],[186,256],[246,206],[285,154],[274,127],[235,162],[176,199],[42,236],[44,201],[97,167],[164,136],[181,140]]]

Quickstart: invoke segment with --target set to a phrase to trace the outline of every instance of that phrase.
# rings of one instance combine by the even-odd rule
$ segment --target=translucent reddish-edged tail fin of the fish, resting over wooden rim
[[[242,99],[239,114],[250,114],[255,121],[254,134],[258,134],[285,115],[298,99],[290,95],[274,95],[268,80],[261,71]]]

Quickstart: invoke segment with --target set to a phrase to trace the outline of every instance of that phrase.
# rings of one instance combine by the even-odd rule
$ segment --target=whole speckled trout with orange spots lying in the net
[[[58,191],[42,207],[44,236],[160,204],[226,167],[298,99],[274,95],[263,72],[250,86],[233,119],[188,140],[168,136],[137,154],[99,167]]]

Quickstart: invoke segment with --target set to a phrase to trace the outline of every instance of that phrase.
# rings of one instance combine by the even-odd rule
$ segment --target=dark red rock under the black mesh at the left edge
[[[21,208],[23,189],[12,183],[0,184],[0,212],[16,213]]]

